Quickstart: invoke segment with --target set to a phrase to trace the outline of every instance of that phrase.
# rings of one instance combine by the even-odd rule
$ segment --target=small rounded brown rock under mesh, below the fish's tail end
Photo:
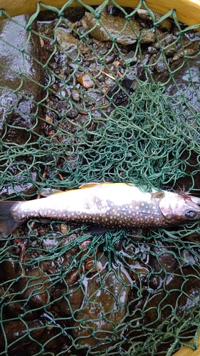
[[[18,290],[27,304],[33,308],[40,308],[49,300],[50,278],[39,268],[26,272],[26,276],[19,281]]]

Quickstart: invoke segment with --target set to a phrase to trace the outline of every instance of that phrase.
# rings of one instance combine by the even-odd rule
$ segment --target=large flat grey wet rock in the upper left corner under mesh
[[[7,127],[4,141],[18,145],[26,143],[31,133],[40,132],[36,119],[36,102],[41,98],[43,70],[33,58],[40,59],[41,45],[39,36],[33,33],[28,41],[29,31],[24,27],[29,19],[30,16],[16,17],[15,21],[19,21],[21,26],[9,20],[0,23],[1,39],[9,43],[1,42],[0,86],[4,89],[0,90],[0,132],[2,137],[4,128]],[[36,22],[32,29],[37,31]],[[21,51],[24,46],[24,51]],[[30,53],[31,57],[26,53]],[[21,72],[22,75],[19,74]],[[17,90],[18,88],[20,89]]]

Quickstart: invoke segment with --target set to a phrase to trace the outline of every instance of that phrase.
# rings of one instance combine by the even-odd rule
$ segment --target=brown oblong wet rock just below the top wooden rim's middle
[[[90,36],[98,41],[112,41],[112,38],[116,36],[117,43],[121,43],[123,46],[135,43],[141,29],[135,20],[130,20],[130,23],[127,23],[126,19],[104,12],[100,16],[100,21],[95,19],[95,16],[90,12],[85,12],[81,23],[84,28],[91,30]],[[96,23],[97,26],[93,28]]]

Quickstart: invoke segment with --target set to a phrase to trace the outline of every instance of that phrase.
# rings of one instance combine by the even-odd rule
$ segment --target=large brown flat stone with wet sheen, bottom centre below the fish
[[[98,350],[101,350],[119,337],[113,331],[125,317],[129,284],[122,271],[118,278],[114,271],[88,278],[85,298],[73,328],[73,337],[78,337],[80,345],[93,347],[99,344]]]

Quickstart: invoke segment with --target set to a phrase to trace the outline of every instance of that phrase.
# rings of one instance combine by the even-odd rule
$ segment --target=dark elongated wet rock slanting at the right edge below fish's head
[[[175,270],[162,284],[162,288],[145,301],[142,311],[144,325],[157,327],[175,315],[188,318],[193,308],[199,304],[199,288],[199,273],[196,269],[184,266]]]

